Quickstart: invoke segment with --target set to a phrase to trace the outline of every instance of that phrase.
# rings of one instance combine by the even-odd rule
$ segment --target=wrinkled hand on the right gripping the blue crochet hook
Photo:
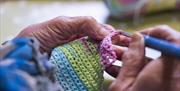
[[[180,45],[180,33],[168,26],[157,26],[141,33]],[[180,59],[162,54],[146,63],[144,39],[135,33],[128,51],[122,55],[123,66],[110,91],[179,91]]]

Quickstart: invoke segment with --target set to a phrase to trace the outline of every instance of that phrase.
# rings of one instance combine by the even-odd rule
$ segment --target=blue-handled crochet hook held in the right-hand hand
[[[131,34],[120,31],[120,34],[131,37]],[[165,40],[152,36],[144,35],[145,46],[158,50],[165,55],[171,55],[180,58],[180,45],[175,45]]]

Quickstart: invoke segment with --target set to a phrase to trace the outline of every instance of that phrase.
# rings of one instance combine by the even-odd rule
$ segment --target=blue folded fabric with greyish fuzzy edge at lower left
[[[64,91],[50,78],[54,66],[35,38],[15,38],[0,52],[0,91]]]

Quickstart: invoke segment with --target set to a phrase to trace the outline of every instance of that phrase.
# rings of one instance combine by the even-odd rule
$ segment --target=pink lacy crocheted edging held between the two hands
[[[112,32],[107,37],[102,40],[100,44],[100,55],[101,55],[101,64],[104,67],[109,67],[117,59],[115,51],[112,49],[112,37],[118,35],[118,32]]]

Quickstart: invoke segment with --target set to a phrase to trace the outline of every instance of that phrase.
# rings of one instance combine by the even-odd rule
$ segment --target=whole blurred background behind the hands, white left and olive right
[[[180,31],[180,0],[0,0],[0,43],[57,16],[92,16],[128,32],[161,24]]]

